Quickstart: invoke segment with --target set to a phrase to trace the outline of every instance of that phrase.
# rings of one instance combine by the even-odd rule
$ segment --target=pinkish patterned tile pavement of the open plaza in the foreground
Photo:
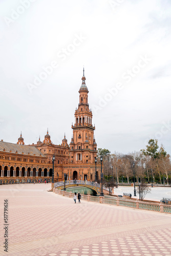
[[[171,215],[101,205],[48,192],[51,184],[0,186],[9,202],[9,252],[17,256],[171,255]]]

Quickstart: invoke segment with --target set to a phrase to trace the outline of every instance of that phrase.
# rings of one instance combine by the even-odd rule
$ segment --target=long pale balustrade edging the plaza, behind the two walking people
[[[63,190],[59,190],[57,188],[53,188],[53,192],[58,195],[66,196],[73,198],[74,193],[67,192]],[[143,209],[143,210],[151,210],[156,212],[165,212],[168,214],[171,214],[171,205],[165,205],[162,203],[146,203],[142,201],[133,201],[133,200],[123,200],[120,198],[108,198],[108,197],[94,197],[90,195],[81,195],[81,200],[85,200],[88,202],[97,202],[102,204],[110,204],[115,206],[123,206],[123,207],[129,207],[129,208],[135,208],[135,209]]]

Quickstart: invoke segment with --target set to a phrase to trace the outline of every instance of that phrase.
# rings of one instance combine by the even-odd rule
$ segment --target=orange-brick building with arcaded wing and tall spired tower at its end
[[[53,144],[49,131],[44,141],[25,145],[22,133],[17,144],[0,141],[0,182],[39,182],[52,180],[52,157],[54,161],[54,181],[68,179],[94,180],[97,144],[94,138],[95,126],[92,125],[92,111],[89,109],[86,77],[82,76],[79,89],[79,104],[75,110],[73,135],[68,144],[66,136],[61,145]],[[97,164],[99,176],[100,165]]]

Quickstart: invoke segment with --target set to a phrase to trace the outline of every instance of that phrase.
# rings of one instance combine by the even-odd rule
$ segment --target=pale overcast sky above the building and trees
[[[1,138],[71,141],[82,69],[97,146],[171,154],[168,0],[1,0]],[[51,66],[51,67],[50,67]]]

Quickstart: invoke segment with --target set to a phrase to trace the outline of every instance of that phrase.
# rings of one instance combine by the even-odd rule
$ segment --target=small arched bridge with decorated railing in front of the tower
[[[66,180],[66,188],[67,187],[76,187],[76,186],[82,186],[82,187],[89,187],[92,190],[95,190],[97,195],[100,195],[101,186],[97,182],[91,182],[91,181],[84,181],[84,180]],[[62,190],[64,188],[64,181],[59,181],[54,183],[54,188],[58,188],[59,190]],[[109,193],[109,188],[106,188],[103,186],[103,193]]]

